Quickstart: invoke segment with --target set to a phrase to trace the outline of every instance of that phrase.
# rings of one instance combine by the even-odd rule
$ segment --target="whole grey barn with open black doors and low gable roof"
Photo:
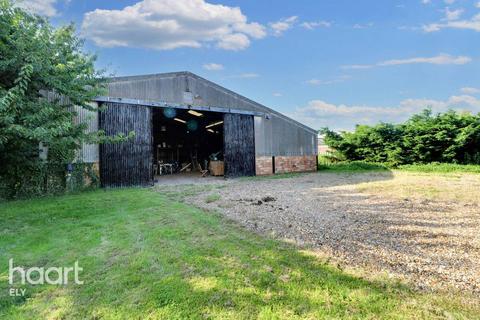
[[[95,104],[98,112],[78,114],[88,130],[135,132],[128,142],[83,145],[78,159],[98,163],[103,187],[214,164],[229,178],[317,167],[316,130],[190,72],[112,78]]]

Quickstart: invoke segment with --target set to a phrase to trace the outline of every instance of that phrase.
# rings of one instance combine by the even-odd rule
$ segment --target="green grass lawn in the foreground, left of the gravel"
[[[348,274],[148,189],[0,204],[0,319],[471,319],[471,298]],[[83,285],[8,295],[8,259]],[[16,287],[21,287],[16,284]]]

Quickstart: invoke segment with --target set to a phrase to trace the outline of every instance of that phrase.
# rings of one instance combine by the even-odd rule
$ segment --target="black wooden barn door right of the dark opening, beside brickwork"
[[[223,139],[225,176],[255,175],[255,131],[253,116],[226,113]]]

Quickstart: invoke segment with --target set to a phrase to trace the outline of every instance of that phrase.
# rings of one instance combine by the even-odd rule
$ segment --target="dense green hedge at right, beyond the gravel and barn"
[[[325,143],[346,160],[413,163],[480,164],[480,115],[430,109],[403,124],[358,125],[354,132],[320,131]]]

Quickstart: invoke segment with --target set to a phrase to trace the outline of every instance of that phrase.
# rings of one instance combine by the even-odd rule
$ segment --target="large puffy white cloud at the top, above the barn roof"
[[[251,39],[266,36],[265,27],[248,22],[238,7],[205,0],[143,0],[121,10],[87,12],[86,38],[102,47],[142,47],[169,50],[214,44],[242,50]]]

